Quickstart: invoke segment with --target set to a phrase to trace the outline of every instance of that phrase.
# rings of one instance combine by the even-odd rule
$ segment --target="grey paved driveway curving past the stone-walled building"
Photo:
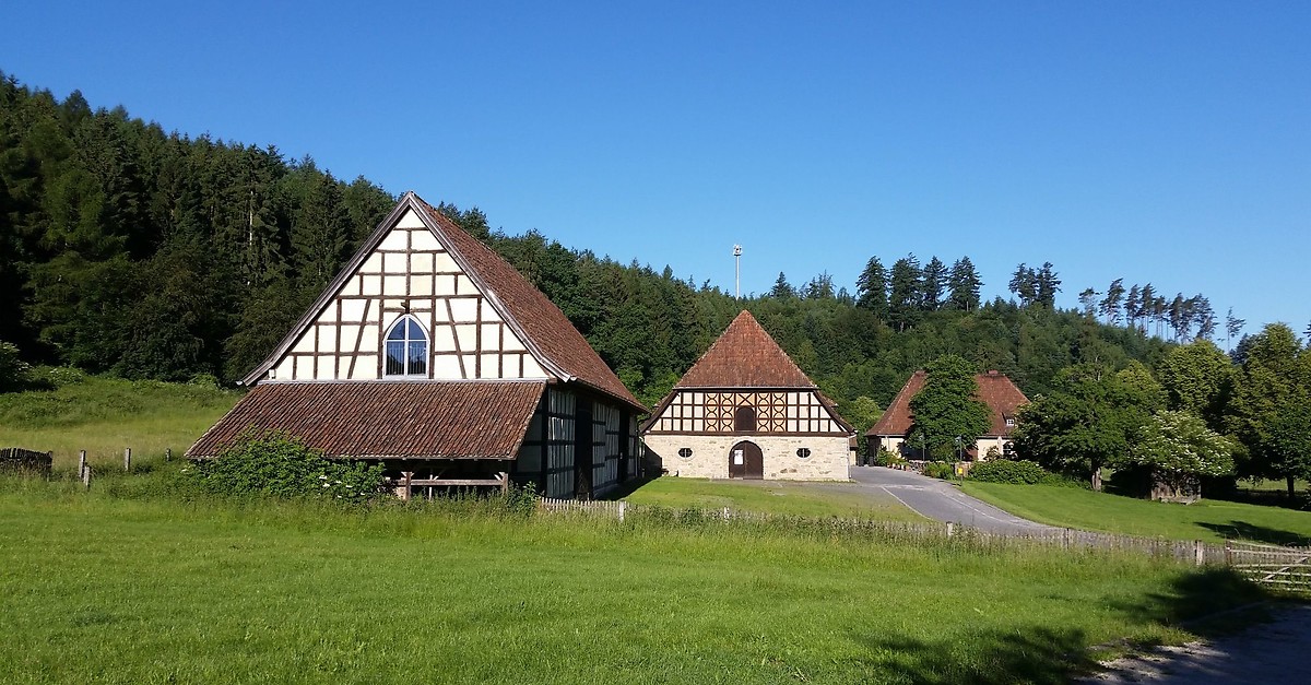
[[[936,521],[952,521],[996,533],[1049,528],[975,500],[947,480],[881,466],[852,466],[848,472],[860,487],[881,489]]]

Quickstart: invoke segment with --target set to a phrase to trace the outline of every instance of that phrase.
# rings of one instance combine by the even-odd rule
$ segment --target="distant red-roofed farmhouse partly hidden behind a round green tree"
[[[915,423],[910,400],[924,387],[926,378],[928,374],[923,370],[911,374],[878,423],[865,432],[871,450],[884,449],[911,459],[924,458],[919,446],[906,442],[906,433]],[[1006,374],[998,371],[978,374],[974,382],[978,384],[975,396],[987,404],[991,421],[987,433],[979,436],[978,442],[964,446],[962,455],[970,461],[983,461],[987,459],[988,450],[996,450],[1000,455],[1011,454],[1011,432],[1015,430],[1016,412],[1029,403],[1029,398],[1025,398]]]

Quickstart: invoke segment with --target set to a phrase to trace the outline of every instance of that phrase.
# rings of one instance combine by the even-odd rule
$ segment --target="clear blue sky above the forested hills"
[[[29,85],[729,291],[741,243],[1311,320],[1311,3],[8,5]]]

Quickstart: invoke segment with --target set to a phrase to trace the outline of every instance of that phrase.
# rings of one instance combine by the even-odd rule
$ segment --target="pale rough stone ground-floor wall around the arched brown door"
[[[846,436],[662,436],[642,438],[646,449],[659,457],[669,475],[690,478],[728,478],[729,450],[742,441],[755,442],[764,461],[766,480],[847,480],[850,449]],[[678,451],[690,447],[692,455]],[[797,450],[810,450],[810,457],[797,457]]]

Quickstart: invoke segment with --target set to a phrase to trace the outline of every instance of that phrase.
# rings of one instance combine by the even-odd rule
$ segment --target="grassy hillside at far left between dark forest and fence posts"
[[[56,470],[76,468],[79,450],[93,465],[122,465],[123,447],[181,455],[239,398],[212,386],[55,371],[64,382],[54,390],[0,394],[0,447],[54,451]]]

